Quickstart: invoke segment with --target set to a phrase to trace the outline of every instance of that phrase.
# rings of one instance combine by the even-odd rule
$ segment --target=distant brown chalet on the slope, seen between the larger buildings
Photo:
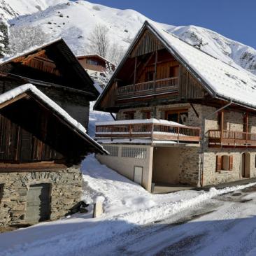
[[[77,56],[77,59],[91,78],[99,83],[103,89],[104,85],[108,82],[106,72],[114,71],[115,65],[97,54]]]

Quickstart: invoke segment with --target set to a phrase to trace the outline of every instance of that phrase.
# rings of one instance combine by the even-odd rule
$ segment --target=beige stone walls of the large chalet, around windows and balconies
[[[250,178],[256,177],[255,157],[256,150],[252,148],[208,148],[208,133],[209,129],[219,129],[218,113],[214,113],[217,108],[211,106],[202,106],[193,104],[194,109],[190,104],[170,104],[163,106],[156,106],[155,108],[132,108],[121,110],[117,118],[122,120],[125,111],[135,111],[134,118],[143,119],[143,111],[151,110],[154,115],[153,118],[164,119],[165,111],[175,108],[188,108],[188,117],[185,125],[200,127],[201,134],[204,129],[205,120],[205,141],[201,143],[200,148],[177,148],[180,152],[180,169],[179,182],[190,185],[199,186],[200,183],[200,169],[204,168],[204,185],[226,183],[234,180],[240,180],[242,169],[242,154],[243,152],[250,153]],[[224,113],[225,129],[231,131],[243,131],[243,113],[240,111],[225,110]],[[249,115],[248,118],[249,129],[252,133],[256,133],[256,117]],[[204,164],[201,166],[201,153],[204,152]],[[233,169],[232,171],[216,172],[216,155],[232,155]],[[170,159],[171,162],[171,159]]]

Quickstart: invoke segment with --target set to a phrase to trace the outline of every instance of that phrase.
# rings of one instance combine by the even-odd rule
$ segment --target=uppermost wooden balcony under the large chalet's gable
[[[177,92],[178,78],[164,78],[152,80],[134,85],[125,85],[117,89],[118,99],[127,97],[141,97],[150,94],[160,94],[164,92]]]

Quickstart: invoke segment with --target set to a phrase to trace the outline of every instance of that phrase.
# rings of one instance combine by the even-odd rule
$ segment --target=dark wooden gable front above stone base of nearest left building
[[[88,152],[97,152],[83,134],[31,92],[0,104],[0,141],[2,170],[6,170],[7,163],[48,162],[50,166],[53,163],[69,166],[79,164]]]

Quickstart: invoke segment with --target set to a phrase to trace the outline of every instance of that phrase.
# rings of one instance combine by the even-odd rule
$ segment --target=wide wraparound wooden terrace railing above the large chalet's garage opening
[[[162,123],[161,123],[162,122]],[[164,122],[164,123],[163,123]],[[199,143],[200,128],[169,125],[166,120],[124,120],[96,124],[95,138],[148,138],[151,141],[177,141]]]

